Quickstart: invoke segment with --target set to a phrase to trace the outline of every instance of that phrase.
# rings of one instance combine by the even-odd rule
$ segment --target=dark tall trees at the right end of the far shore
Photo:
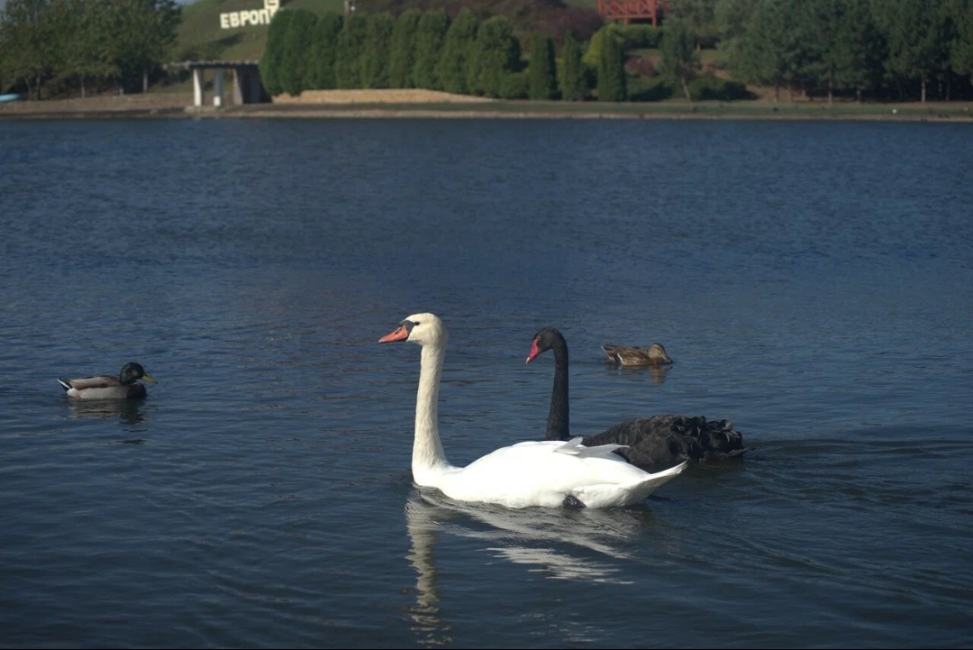
[[[674,0],[739,80],[950,99],[973,75],[973,0]],[[691,18],[690,18],[691,17]]]

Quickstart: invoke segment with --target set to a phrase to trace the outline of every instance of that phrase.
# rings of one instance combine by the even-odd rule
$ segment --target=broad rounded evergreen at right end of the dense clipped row
[[[477,29],[467,61],[466,87],[472,94],[499,97],[504,78],[521,64],[521,43],[510,20],[486,18]]]

